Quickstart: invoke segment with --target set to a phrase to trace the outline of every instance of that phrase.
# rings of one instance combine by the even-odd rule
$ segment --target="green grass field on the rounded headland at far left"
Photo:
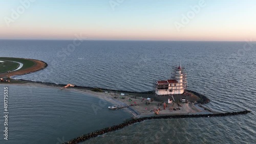
[[[0,61],[4,61],[4,62],[0,62],[0,73],[5,73],[9,70],[11,71],[11,70],[18,68],[18,66],[19,66],[18,63],[10,62],[10,61],[16,61],[16,62],[23,63],[23,67],[20,68],[20,70],[31,67],[35,64],[31,60],[23,59],[23,58],[0,57]]]

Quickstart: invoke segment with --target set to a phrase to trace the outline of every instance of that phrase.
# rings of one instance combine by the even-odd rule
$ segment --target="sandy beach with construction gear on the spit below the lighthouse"
[[[38,84],[42,85],[42,84]],[[61,88],[59,86],[56,86],[58,88]],[[131,113],[132,117],[139,118],[139,117],[147,117],[147,116],[158,116],[155,114],[154,110],[157,110],[160,108],[159,116],[162,115],[181,115],[181,114],[206,114],[206,113],[215,113],[213,111],[205,110],[202,107],[199,107],[198,104],[195,103],[180,103],[182,106],[178,106],[177,103],[175,104],[168,104],[168,107],[165,108],[163,105],[158,106],[158,104],[161,105],[161,102],[153,101],[150,105],[147,105],[146,98],[138,97],[138,94],[131,94],[121,95],[121,92],[113,92],[108,91],[108,93],[104,92],[94,92],[90,89],[81,89],[81,88],[67,88],[69,90],[79,91],[88,95],[92,95],[94,97],[97,97],[99,99],[108,101],[112,103],[113,105],[117,105],[118,107],[125,107],[123,109],[127,110]],[[136,98],[135,95],[137,96]],[[124,99],[122,99],[124,98]],[[167,103],[167,101],[166,101]],[[132,105],[132,106],[131,106]],[[129,106],[129,107],[127,107]],[[105,106],[107,109],[108,106]],[[180,110],[174,110],[174,108],[180,108]]]

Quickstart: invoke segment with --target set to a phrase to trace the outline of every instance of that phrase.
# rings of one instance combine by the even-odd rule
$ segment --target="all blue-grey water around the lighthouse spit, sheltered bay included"
[[[47,68],[13,79],[150,91],[181,64],[188,89],[210,99],[219,112],[245,115],[155,119],[81,143],[255,143],[256,42],[0,40],[0,57],[44,61]],[[4,87],[8,87],[8,140],[4,139]],[[126,110],[70,89],[0,83],[0,143],[62,143],[120,124]],[[2,105],[2,106],[1,106]]]

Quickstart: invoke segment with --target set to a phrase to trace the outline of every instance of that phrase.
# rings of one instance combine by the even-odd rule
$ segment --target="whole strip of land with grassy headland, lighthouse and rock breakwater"
[[[173,79],[157,81],[154,90],[145,92],[11,79],[11,76],[33,73],[45,67],[47,67],[47,63],[39,60],[1,57],[0,78],[2,82],[8,82],[8,84],[33,84],[80,91],[111,102],[117,106],[115,110],[125,109],[131,113],[132,118],[127,122],[81,135],[66,143],[79,143],[147,119],[228,116],[250,112],[249,110],[244,110],[223,113],[207,108],[203,104],[210,102],[208,98],[198,92],[187,90],[186,74],[183,73],[181,66],[176,68]],[[70,87],[70,85],[72,86]],[[100,108],[108,108],[108,106],[105,105]]]

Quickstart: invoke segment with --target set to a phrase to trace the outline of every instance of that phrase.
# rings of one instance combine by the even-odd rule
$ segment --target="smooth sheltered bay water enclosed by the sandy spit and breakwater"
[[[9,136],[5,141],[1,135],[0,143],[62,143],[130,118],[123,110],[106,108],[111,103],[81,92],[0,84],[1,93],[6,86],[9,92]],[[0,110],[3,115],[4,106]],[[1,131],[4,127],[2,117]]]

